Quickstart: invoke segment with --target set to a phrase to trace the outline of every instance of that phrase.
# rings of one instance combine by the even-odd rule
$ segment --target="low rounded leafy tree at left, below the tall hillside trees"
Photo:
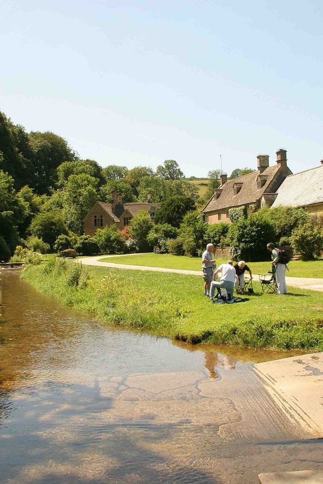
[[[53,248],[55,240],[61,234],[68,234],[62,215],[57,212],[40,212],[30,224],[29,232]]]

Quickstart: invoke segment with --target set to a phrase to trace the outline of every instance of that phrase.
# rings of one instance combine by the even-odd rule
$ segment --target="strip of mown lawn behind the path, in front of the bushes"
[[[138,254],[123,257],[109,257],[100,259],[103,262],[114,262],[115,264],[129,264],[146,267],[164,267],[167,269],[185,269],[189,271],[201,270],[201,259],[199,257],[173,256],[172,254]],[[224,259],[217,259],[218,267]],[[249,263],[248,263],[249,265]],[[271,270],[271,263],[250,262],[249,265],[254,274],[265,274]],[[288,277],[314,277],[323,278],[323,260],[319,261],[291,261],[288,264]]]

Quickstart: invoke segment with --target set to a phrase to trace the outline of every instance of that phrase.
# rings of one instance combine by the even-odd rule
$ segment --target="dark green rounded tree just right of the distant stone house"
[[[184,215],[193,210],[195,210],[195,202],[191,197],[176,195],[161,204],[154,221],[155,223],[169,223],[178,228]]]

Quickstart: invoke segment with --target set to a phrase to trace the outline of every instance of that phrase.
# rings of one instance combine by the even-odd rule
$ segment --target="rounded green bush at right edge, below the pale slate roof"
[[[292,231],[291,242],[293,249],[302,254],[305,260],[320,257],[323,251],[323,232],[315,220],[310,220]]]

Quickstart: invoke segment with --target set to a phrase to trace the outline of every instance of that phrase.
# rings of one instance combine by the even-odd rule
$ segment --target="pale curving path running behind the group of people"
[[[133,254],[136,256],[136,254]],[[155,271],[155,272],[174,272],[175,274],[187,274],[201,277],[201,271],[186,271],[183,269],[168,269],[165,267],[149,267],[149,266],[134,266],[129,264],[115,264],[113,262],[100,262],[99,259],[107,257],[124,257],[120,256],[93,256],[83,257],[78,259],[78,262],[82,262],[88,266],[102,266],[102,267],[114,267],[116,269],[129,269],[135,271]],[[258,279],[258,275],[254,275],[255,280]],[[286,283],[291,287],[300,287],[301,289],[311,289],[313,291],[323,291],[323,279],[314,279],[307,277],[286,277]]]

